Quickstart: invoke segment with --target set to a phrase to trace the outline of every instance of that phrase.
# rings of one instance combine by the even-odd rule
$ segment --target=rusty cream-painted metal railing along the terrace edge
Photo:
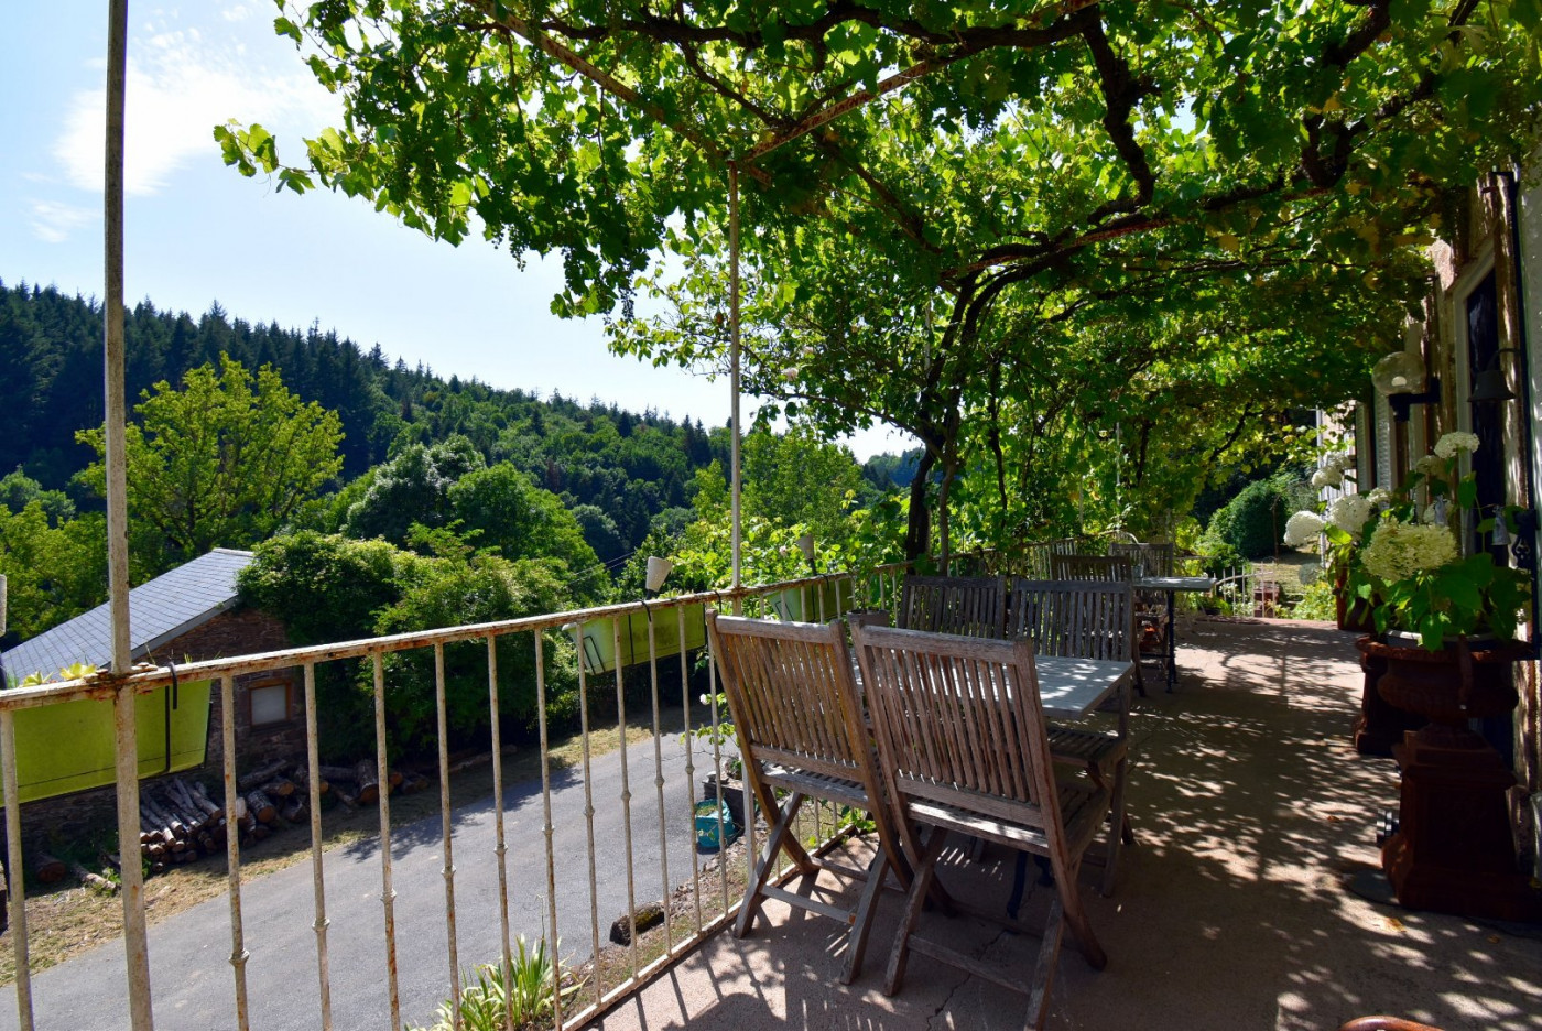
[[[461,643],[476,643],[484,641],[487,647],[487,715],[492,727],[492,820],[493,820],[493,848],[492,855],[481,855],[470,861],[483,863],[492,861],[497,865],[497,908],[498,908],[498,942],[500,955],[497,957],[475,957],[476,960],[492,960],[501,965],[506,974],[512,972],[515,952],[512,949],[512,928],[510,928],[510,869],[507,861],[507,828],[506,828],[506,784],[504,781],[504,761],[503,761],[503,741],[500,729],[500,710],[498,710],[498,650],[497,644],[503,638],[513,635],[527,635],[532,641],[534,657],[535,657],[535,704],[537,704],[537,724],[538,724],[538,740],[541,749],[541,775],[540,775],[540,818],[541,818],[541,837],[544,838],[544,909],[540,912],[540,920],[543,926],[543,937],[547,937],[549,951],[557,957],[557,940],[558,931],[563,926],[572,925],[569,918],[563,923],[563,917],[571,917],[572,911],[577,908],[580,912],[586,911],[586,929],[589,932],[589,945],[594,952],[594,974],[591,983],[581,985],[574,994],[566,994],[563,991],[555,992],[554,999],[554,1014],[550,1026],[554,1028],[571,1028],[578,1026],[617,1002],[628,997],[638,986],[651,980],[657,972],[665,969],[669,963],[677,960],[680,955],[689,952],[700,943],[702,939],[712,934],[715,929],[723,926],[737,911],[739,891],[729,889],[731,877],[728,871],[726,849],[720,849],[714,869],[703,871],[702,863],[691,858],[689,877],[682,874],[682,865],[678,861],[680,848],[675,843],[674,852],[677,857],[674,872],[671,872],[671,841],[669,829],[671,826],[689,826],[689,814],[694,812],[697,798],[697,751],[695,738],[689,734],[692,723],[691,714],[691,683],[688,660],[695,655],[700,660],[706,655],[705,643],[705,613],[706,606],[714,606],[719,609],[736,609],[745,610],[749,615],[782,615],[782,616],[802,616],[805,620],[830,620],[845,612],[857,607],[879,606],[893,607],[899,590],[899,576],[904,572],[904,566],[887,566],[873,573],[851,575],[851,573],[831,573],[822,576],[810,576],[796,581],[783,581],[776,584],[765,584],[756,587],[743,587],[739,590],[722,590],[708,592],[689,596],[658,599],[652,603],[629,603],[617,606],[603,606],[594,609],[583,609],[575,612],[549,613],[520,620],[506,620],[500,623],[486,623],[476,626],[461,626],[443,630],[418,632],[418,633],[398,633],[392,636],[378,636],[361,641],[347,641],[339,644],[324,644],[315,647],[296,647],[284,649],[276,652],[265,652],[256,655],[244,655],[236,658],[222,658],[211,661],[191,663],[187,666],[179,666],[173,673],[171,669],[139,669],[125,677],[108,677],[99,675],[86,680],[76,680],[60,684],[45,684],[37,687],[19,687],[12,690],[0,692],[0,774],[3,774],[3,800],[6,808],[6,837],[9,843],[9,869],[11,869],[11,934],[12,948],[15,952],[15,1000],[17,1000],[17,1016],[19,1026],[25,1031],[32,1031],[34,1028],[34,985],[32,974],[29,972],[29,955],[28,955],[28,915],[26,915],[26,895],[23,889],[22,877],[22,841],[23,841],[23,826],[22,826],[22,806],[19,804],[19,789],[17,789],[17,769],[15,769],[15,712],[28,707],[39,706],[54,706],[66,701],[77,701],[83,698],[111,698],[117,706],[131,706],[134,695],[154,690],[160,686],[174,683],[174,678],[180,678],[183,683],[193,680],[214,680],[217,681],[219,697],[222,700],[221,717],[222,723],[219,732],[224,740],[224,803],[225,814],[231,817],[231,826],[227,832],[227,861],[228,861],[228,902],[230,902],[230,955],[228,962],[231,966],[231,1011],[234,1016],[236,1026],[245,1028],[251,1022],[251,1006],[253,1000],[248,992],[248,965],[254,957],[262,955],[265,942],[258,934],[248,934],[244,923],[242,909],[242,888],[247,882],[242,877],[242,846],[241,835],[234,832],[233,814],[239,808],[239,771],[237,771],[237,741],[236,741],[236,701],[234,701],[234,686],[237,677],[245,677],[248,673],[258,673],[264,670],[279,670],[299,667],[304,681],[304,720],[305,720],[305,763],[308,772],[308,792],[310,792],[310,852],[311,852],[311,882],[313,882],[313,900],[311,900],[311,920],[310,926],[315,931],[315,955],[313,966],[315,976],[318,979],[318,996],[316,1006],[318,1011],[313,1017],[307,1017],[307,1022],[313,1020],[315,1025],[330,1029],[333,1026],[333,1006],[338,1002],[338,994],[333,991],[333,974],[335,966],[328,954],[328,929],[332,928],[332,920],[336,912],[328,917],[328,897],[327,897],[327,865],[324,863],[324,835],[322,835],[322,775],[321,775],[321,747],[318,740],[318,720],[316,720],[316,670],[328,663],[345,663],[353,660],[367,660],[373,667],[373,712],[375,712],[375,761],[378,767],[379,778],[379,898],[382,905],[382,922],[379,925],[379,943],[384,945],[384,965],[381,969],[382,977],[378,979],[379,991],[384,994],[384,1000],[375,1000],[375,1013],[379,1013],[379,1006],[389,1008],[390,1026],[395,1029],[402,1028],[402,1009],[404,1000],[401,994],[401,979],[398,971],[398,955],[399,955],[399,935],[404,932],[399,925],[399,915],[396,912],[396,892],[393,888],[393,854],[392,854],[392,823],[390,823],[390,769],[389,769],[389,754],[387,754],[387,672],[386,672],[386,657],[399,652],[413,652],[418,649],[432,649],[433,652],[433,687],[435,687],[435,709],[436,709],[436,729],[438,729],[438,778],[439,778],[439,809],[441,809],[441,857],[439,857],[439,872],[444,880],[444,898],[443,898],[443,931],[446,932],[446,955],[444,969],[446,980],[443,992],[438,992],[432,1000],[412,999],[410,1016],[418,1020],[433,1013],[433,1008],[443,1002],[450,1000],[453,1006],[458,1006],[461,1000],[461,951],[458,948],[458,902],[456,902],[456,854],[453,851],[456,826],[455,812],[452,811],[450,800],[450,754],[447,749],[447,740],[452,732],[447,715],[446,704],[446,670],[444,670],[444,649],[450,644]],[[658,613],[671,613],[671,620],[657,620],[658,623],[674,624],[675,640],[662,640],[655,633],[655,616]],[[648,701],[651,709],[651,718],[645,723],[643,729],[649,730],[652,735],[652,786],[654,791],[649,792],[652,798],[648,798],[643,806],[634,808],[634,795],[631,789],[629,778],[629,761],[628,761],[628,709],[626,709],[626,686],[625,686],[625,666],[623,663],[623,641],[621,629],[623,621],[626,621],[631,629],[628,618],[641,616],[646,620],[646,658],[638,661],[638,657],[632,655],[631,666],[641,666],[646,661],[648,666]],[[612,635],[612,661],[589,663],[586,658],[586,646],[592,644],[592,635],[586,638],[586,630],[606,629],[604,621],[609,621],[609,630]],[[700,621],[700,626],[699,623]],[[700,633],[699,633],[700,632]],[[581,780],[583,780],[583,840],[586,841],[584,861],[580,863],[577,855],[560,854],[560,845],[557,843],[557,832],[566,829],[560,826],[558,817],[554,814],[554,798],[560,795],[560,791],[554,788],[552,783],[552,763],[549,755],[550,737],[549,737],[549,720],[547,720],[547,657],[552,647],[552,636],[557,633],[572,635],[577,644],[577,692],[578,692],[578,718],[580,726],[580,744],[581,744]],[[699,646],[692,647],[691,641],[700,641]],[[660,714],[668,701],[668,693],[672,692],[672,686],[660,683],[658,677],[658,660],[660,655],[680,655],[680,707],[682,720],[686,734],[680,735],[678,741],[685,751],[683,767],[678,767],[674,761],[665,761],[665,744],[666,732],[660,723]],[[717,724],[726,718],[725,712],[719,710],[717,700],[717,683],[715,683],[715,664],[706,663],[708,670],[708,710],[706,717],[711,723]],[[595,797],[595,778],[592,769],[591,755],[591,726],[589,726],[589,701],[591,687],[598,677],[611,672],[614,667],[615,681],[615,704],[617,704],[617,723],[618,723],[618,761],[620,761],[620,791],[614,798],[598,798]],[[401,673],[409,675],[409,673]],[[395,677],[395,673],[393,673]],[[699,710],[700,712],[700,710]],[[714,740],[711,763],[714,771],[723,767],[723,752],[722,741]],[[117,780],[123,783],[125,780],[137,783],[133,778],[137,774],[137,755],[136,743],[122,735],[117,741],[116,752],[116,769]],[[678,783],[677,774],[683,774],[683,791]],[[719,804],[722,804],[722,778],[719,778]],[[122,792],[120,792],[122,794]],[[689,809],[682,812],[671,809],[671,800],[678,803],[680,800],[689,803]],[[645,794],[646,798],[646,794]],[[618,804],[621,812],[621,840],[620,841],[600,841],[595,834],[595,812],[598,804]],[[748,801],[748,800],[746,800]],[[746,806],[746,812],[754,812],[751,806]],[[137,818],[137,814],[136,814]],[[814,815],[816,826],[813,829],[814,843],[828,843],[834,835],[840,832],[836,826],[837,820],[834,814],[827,821],[819,811]],[[638,952],[638,935],[631,934],[631,945],[628,949],[626,966],[621,976],[603,977],[600,955],[600,914],[601,914],[601,891],[598,888],[597,869],[604,866],[606,869],[614,869],[617,865],[625,869],[625,905],[628,914],[637,912],[638,900],[638,885],[640,872],[637,869],[637,855],[634,854],[634,823],[643,828],[641,835],[649,837],[652,828],[648,824],[657,823],[657,880],[652,877],[652,871],[648,872],[646,880],[649,891],[657,885],[662,897],[665,900],[665,926],[666,926],[666,948],[654,959],[643,960]],[[749,865],[754,861],[754,820],[746,820],[749,824],[746,831],[746,869],[745,875],[749,874]],[[828,826],[827,826],[828,823]],[[120,820],[120,826],[123,821]],[[677,835],[678,838],[678,835]],[[689,835],[688,835],[689,841]],[[134,861],[133,843],[123,841],[120,845],[120,855],[125,863]],[[461,854],[461,861],[467,861],[467,855]],[[532,880],[535,871],[520,869],[515,871],[520,877],[521,885],[527,885]],[[680,880],[680,885],[675,883]],[[706,883],[703,883],[703,880]],[[712,885],[711,882],[719,882]],[[680,914],[674,912],[669,905],[671,894],[682,888],[683,885],[691,886],[691,894],[694,895],[694,908],[689,912]],[[529,900],[529,898],[526,898]],[[416,902],[416,900],[415,900]],[[541,900],[535,900],[537,905]],[[143,917],[143,898],[125,897],[125,912],[136,908],[137,915]],[[296,900],[296,908],[299,903]],[[421,905],[415,906],[415,911],[421,912]],[[478,914],[481,915],[481,914]],[[688,926],[680,928],[678,925],[686,922]],[[136,926],[134,920],[128,920],[128,926]],[[137,926],[143,928],[143,922],[137,922]],[[635,931],[635,928],[634,928]],[[418,935],[418,925],[413,925],[409,934]],[[137,943],[137,948],[143,948],[143,940]],[[133,957],[136,951],[136,942],[126,940],[128,955]],[[154,960],[154,957],[151,957]],[[282,962],[293,966],[295,957],[285,955]],[[310,965],[307,960],[305,965]],[[560,959],[554,960],[560,968]],[[151,1006],[151,985],[150,985],[150,965],[136,963],[130,959],[125,963],[126,971],[126,999],[123,1005],[128,1008],[130,1022],[136,1031],[146,1031],[151,1025],[153,1006]],[[177,971],[179,976],[197,977],[207,974],[208,971]],[[293,972],[293,971],[291,971]],[[205,979],[207,980],[207,979]],[[299,985],[308,977],[291,977],[293,985]],[[358,999],[348,999],[348,1005],[355,1009],[358,1008]],[[509,999],[510,1019],[512,1019],[512,996]],[[453,1008],[452,1006],[452,1008]],[[355,1016],[350,1014],[348,1022],[356,1022]],[[458,1023],[458,1020],[456,1020]]]

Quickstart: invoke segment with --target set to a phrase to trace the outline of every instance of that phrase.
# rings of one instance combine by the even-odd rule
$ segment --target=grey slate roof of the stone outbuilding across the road
[[[236,573],[251,552],[216,547],[128,592],[128,632],[137,660],[167,641],[208,623],[236,604]],[[8,680],[42,672],[57,680],[74,663],[105,667],[113,661],[113,624],[106,604],[82,613],[0,655]]]

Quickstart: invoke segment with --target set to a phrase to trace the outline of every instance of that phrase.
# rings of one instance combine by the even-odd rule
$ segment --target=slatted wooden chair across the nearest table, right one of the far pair
[[[1101,658],[1132,663],[1133,673],[1104,704],[1115,715],[1112,730],[1049,723],[1050,754],[1056,761],[1076,763],[1113,792],[1109,814],[1109,854],[1103,871],[1103,894],[1113,894],[1119,846],[1133,841],[1124,812],[1130,757],[1130,686],[1140,684],[1135,652],[1135,606],[1129,584],[1087,579],[1015,579],[1007,607],[1007,636],[1033,643],[1036,655]],[[1144,689],[1141,689],[1144,695]]]

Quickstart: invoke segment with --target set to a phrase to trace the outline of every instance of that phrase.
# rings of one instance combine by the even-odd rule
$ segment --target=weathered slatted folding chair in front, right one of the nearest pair
[[[1095,969],[1107,962],[1081,905],[1076,872],[1109,812],[1109,789],[1086,777],[1055,777],[1027,641],[873,626],[854,626],[851,636],[894,823],[910,854],[919,855],[884,991],[899,989],[916,951],[1002,988],[1025,989],[1025,1026],[1042,1028],[1064,929]],[[917,824],[931,828],[925,848]],[[1021,977],[998,974],[971,954],[916,934],[938,857],[953,831],[1050,861],[1056,897],[1038,960]]]

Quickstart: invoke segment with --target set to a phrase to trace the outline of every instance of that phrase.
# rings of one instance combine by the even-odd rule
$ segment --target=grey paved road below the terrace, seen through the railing
[[[691,877],[695,861],[685,778],[685,746],[663,740],[665,812],[669,880]],[[697,774],[703,769],[697,752]],[[637,902],[660,898],[658,795],[654,749],[628,749],[632,789],[632,863]],[[595,806],[595,880],[600,939],[626,909],[626,852],[621,828],[618,754],[592,764]],[[552,823],[557,855],[557,922],[563,955],[577,963],[592,952],[589,920],[588,831],[583,818],[581,769],[554,780]],[[540,781],[506,792],[510,934],[535,939],[546,915],[546,849],[541,835]],[[439,817],[399,828],[392,835],[396,889],[396,942],[402,1019],[427,1023],[449,994],[444,878]],[[493,854],[492,800],[455,814],[456,942],[463,968],[490,962],[500,951],[498,868]],[[290,834],[299,834],[291,831]],[[327,935],[332,1008],[338,1031],[390,1026],[379,841],[339,848],[325,855]],[[151,888],[154,880],[150,882]],[[311,865],[299,863],[242,888],[247,983],[253,1028],[318,1028],[319,988],[311,931]],[[9,948],[9,943],[5,945]],[[234,1028],[227,895],[170,917],[150,929],[151,988],[156,1028],[163,1031]],[[128,1026],[123,946],[113,942],[32,979],[40,1031],[109,1031]],[[15,989],[0,991],[0,1029],[17,1026]]]

